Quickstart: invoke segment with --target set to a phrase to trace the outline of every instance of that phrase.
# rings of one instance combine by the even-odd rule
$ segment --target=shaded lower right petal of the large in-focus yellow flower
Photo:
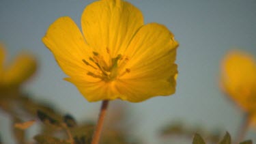
[[[173,72],[177,74],[177,66],[173,65]],[[120,99],[129,102],[142,102],[154,96],[169,96],[175,93],[176,81],[174,76],[157,79],[156,77],[119,80],[116,89]]]

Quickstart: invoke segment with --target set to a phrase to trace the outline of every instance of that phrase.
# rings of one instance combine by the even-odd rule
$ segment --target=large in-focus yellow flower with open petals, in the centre
[[[175,92],[178,43],[157,23],[143,24],[134,5],[102,0],[88,5],[82,32],[68,17],[57,19],[42,41],[89,102],[141,102]]]

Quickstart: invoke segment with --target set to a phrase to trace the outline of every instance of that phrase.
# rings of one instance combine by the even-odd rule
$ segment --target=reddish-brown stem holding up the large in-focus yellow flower
[[[94,131],[94,136],[92,138],[91,144],[98,144],[100,141],[100,133],[102,131],[104,116],[106,115],[106,109],[108,108],[109,100],[103,100],[100,115],[98,118],[98,124],[96,126],[96,130]]]

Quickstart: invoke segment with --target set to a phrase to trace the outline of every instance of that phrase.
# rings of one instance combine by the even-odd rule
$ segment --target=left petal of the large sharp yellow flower
[[[85,65],[83,59],[89,59],[91,50],[71,18],[66,16],[57,19],[48,28],[42,41],[51,50],[59,66],[68,76],[87,76],[89,66]],[[87,77],[87,81],[94,81],[91,76]]]

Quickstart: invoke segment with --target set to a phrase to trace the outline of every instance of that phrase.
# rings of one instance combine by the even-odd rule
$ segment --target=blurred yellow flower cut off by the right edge
[[[252,55],[229,52],[222,62],[221,84],[244,112],[256,114],[256,61]]]

